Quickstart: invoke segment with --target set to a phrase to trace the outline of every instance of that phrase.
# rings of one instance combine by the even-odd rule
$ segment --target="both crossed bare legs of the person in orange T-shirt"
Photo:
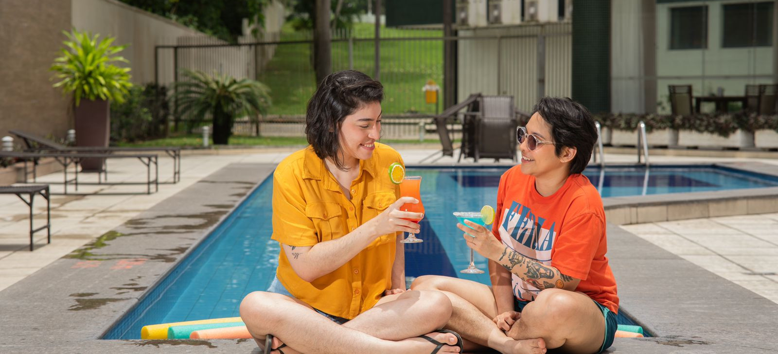
[[[559,348],[564,352],[594,353],[605,339],[605,317],[583,293],[545,289],[524,307],[513,327],[503,332],[492,322],[497,307],[489,286],[425,275],[415,279],[411,289],[445,293],[454,308],[446,328],[457,331],[475,345],[499,352],[538,353],[545,352],[545,348]]]

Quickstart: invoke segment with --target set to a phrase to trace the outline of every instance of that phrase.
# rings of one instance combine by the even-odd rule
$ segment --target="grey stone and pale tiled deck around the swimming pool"
[[[426,149],[399,150],[408,164],[431,153]],[[39,244],[37,247],[40,248],[31,253],[14,249],[26,247],[26,218],[16,216],[26,216],[26,210],[19,211],[24,205],[12,198],[3,199],[7,203],[3,204],[0,215],[12,217],[0,219],[0,234],[3,235],[0,247],[4,247],[0,248],[4,252],[0,254],[0,270],[6,273],[17,266],[30,272],[35,267],[51,264],[32,275],[21,276],[22,279],[16,279],[14,284],[0,292],[4,319],[0,324],[0,352],[159,352],[158,348],[163,348],[165,352],[251,352],[254,349],[251,341],[143,342],[102,341],[96,338],[137,303],[145,290],[169,272],[177,260],[185,257],[190,247],[197,244],[221,217],[226,216],[254,184],[272,173],[275,163],[288,153],[287,149],[242,155],[184,156],[182,181],[160,185],[156,195],[55,196],[58,202],[52,202],[52,212],[60,217],[52,218],[52,244]],[[628,156],[606,158],[609,162],[619,161],[620,158],[622,162],[634,160],[634,156],[629,156],[629,161]],[[661,159],[657,156],[652,162],[682,159]],[[700,162],[699,158],[691,159]],[[743,159],[737,161],[744,162]],[[160,163],[163,162],[160,159]],[[773,169],[776,171],[773,174],[778,174],[775,160],[749,162],[767,163],[762,167]],[[491,160],[483,163],[491,164]],[[442,164],[450,165],[450,162],[443,161]],[[114,168],[118,170],[112,173],[114,178],[133,177],[131,173],[121,174],[118,163]],[[160,170],[166,169],[160,166]],[[40,180],[45,181],[48,177],[51,181],[60,178],[58,173],[54,173],[53,177]],[[54,185],[54,192],[58,187]],[[138,188],[121,188],[133,187]],[[106,191],[110,191],[114,187],[86,186],[84,191],[89,191],[87,188],[108,188]],[[732,218],[748,219],[736,222],[738,219]],[[646,339],[619,338],[611,352],[770,352],[778,344],[778,340],[773,338],[773,327],[778,322],[775,320],[778,318],[775,300],[768,300],[763,294],[759,296],[728,281],[726,276],[727,279],[724,279],[696,265],[697,262],[688,261],[687,256],[695,254],[682,254],[681,258],[666,251],[664,248],[673,250],[681,247],[677,242],[674,244],[675,241],[668,241],[669,237],[655,236],[674,234],[686,237],[686,241],[696,242],[704,249],[704,242],[695,241],[690,236],[696,233],[685,230],[704,225],[699,227],[698,231],[702,231],[699,233],[716,235],[717,227],[733,230],[730,225],[740,223],[744,229],[741,231],[755,238],[748,242],[758,244],[741,247],[744,249],[739,251],[741,255],[752,258],[759,252],[768,254],[763,259],[766,263],[762,263],[763,267],[760,265],[762,268],[755,265],[749,268],[744,259],[741,261],[743,267],[738,269],[741,273],[769,273],[770,267],[775,266],[769,261],[772,259],[774,262],[776,258],[769,258],[771,254],[766,250],[776,248],[778,240],[768,237],[775,234],[776,228],[765,220],[776,222],[776,219],[778,216],[767,214],[730,217],[724,221],[727,225],[712,218],[684,222],[688,225],[667,222],[678,223],[675,229],[664,223],[624,226],[627,230],[640,226],[654,232],[635,230],[643,233],[641,237],[619,226],[609,225],[608,256],[619,282],[622,310],[658,335],[657,338]],[[762,228],[750,228],[750,225],[762,225]],[[657,233],[654,226],[668,232]],[[15,235],[19,241],[13,244],[16,239],[5,235]],[[103,235],[101,242],[82,248],[82,252],[72,255],[73,258],[61,258],[98,235]],[[716,240],[716,247],[706,249],[710,254],[699,255],[713,260],[712,263],[716,259],[711,256],[730,263],[738,261],[734,255],[724,252],[727,237],[717,237]],[[693,248],[688,244],[683,246],[687,250]],[[678,251],[674,253],[678,254]],[[772,269],[778,271],[774,267]],[[728,269],[727,272],[734,274],[738,270]],[[753,276],[778,283],[778,279],[770,280],[770,275]]]

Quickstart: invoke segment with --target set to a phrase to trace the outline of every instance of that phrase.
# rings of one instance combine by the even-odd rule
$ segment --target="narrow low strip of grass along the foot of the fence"
[[[419,139],[415,140],[381,140],[386,144],[397,143],[419,143]],[[423,143],[438,143],[438,139],[426,139]],[[211,141],[213,144],[213,141]],[[256,137],[256,136],[244,136],[233,135],[230,137],[230,146],[296,146],[307,145],[308,142],[305,138],[286,138],[286,137]],[[180,146],[180,147],[200,147],[202,146],[202,135],[191,134],[181,135],[171,138],[159,138],[154,140],[147,140],[144,142],[119,142],[117,146],[128,147],[146,147],[146,146]]]

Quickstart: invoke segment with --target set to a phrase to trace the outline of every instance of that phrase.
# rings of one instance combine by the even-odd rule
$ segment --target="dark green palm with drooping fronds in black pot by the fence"
[[[265,114],[271,104],[270,89],[252,79],[235,79],[228,75],[206,75],[183,70],[184,80],[177,82],[177,114],[188,115],[195,122],[211,117],[213,143],[227,144],[233,123],[240,115]]]

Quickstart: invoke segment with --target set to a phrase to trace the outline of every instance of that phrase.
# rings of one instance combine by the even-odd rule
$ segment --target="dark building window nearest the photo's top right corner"
[[[722,47],[773,45],[773,2],[724,5]]]

